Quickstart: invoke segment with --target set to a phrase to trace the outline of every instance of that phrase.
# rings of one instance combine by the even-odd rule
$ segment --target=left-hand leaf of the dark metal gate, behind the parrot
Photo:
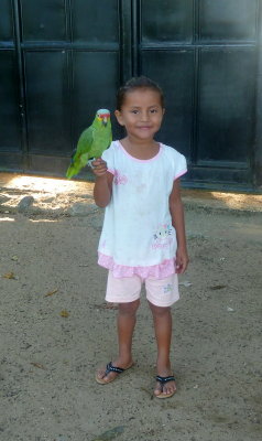
[[[127,28],[123,6],[118,0],[110,7],[107,0],[3,1],[1,170],[64,175],[96,110],[114,109],[128,41],[120,35]]]

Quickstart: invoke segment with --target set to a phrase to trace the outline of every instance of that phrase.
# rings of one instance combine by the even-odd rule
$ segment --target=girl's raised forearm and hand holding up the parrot
[[[107,163],[101,158],[92,161],[92,166],[96,175],[94,198],[98,206],[105,208],[111,200],[113,175],[107,171]]]

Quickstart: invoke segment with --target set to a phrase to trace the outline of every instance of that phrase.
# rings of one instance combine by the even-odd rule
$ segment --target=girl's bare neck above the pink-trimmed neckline
[[[160,151],[160,144],[154,139],[151,140],[132,140],[129,137],[121,139],[124,150],[137,159],[149,160],[154,158]]]

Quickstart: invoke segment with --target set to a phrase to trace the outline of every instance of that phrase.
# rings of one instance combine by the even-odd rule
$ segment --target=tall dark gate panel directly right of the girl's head
[[[145,50],[141,56],[141,71],[162,85],[166,96],[166,114],[157,139],[175,146],[190,158],[194,52]]]

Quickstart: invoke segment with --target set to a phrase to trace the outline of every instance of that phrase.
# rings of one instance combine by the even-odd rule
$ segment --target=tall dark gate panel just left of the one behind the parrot
[[[30,152],[69,151],[66,52],[28,51],[25,77]]]

